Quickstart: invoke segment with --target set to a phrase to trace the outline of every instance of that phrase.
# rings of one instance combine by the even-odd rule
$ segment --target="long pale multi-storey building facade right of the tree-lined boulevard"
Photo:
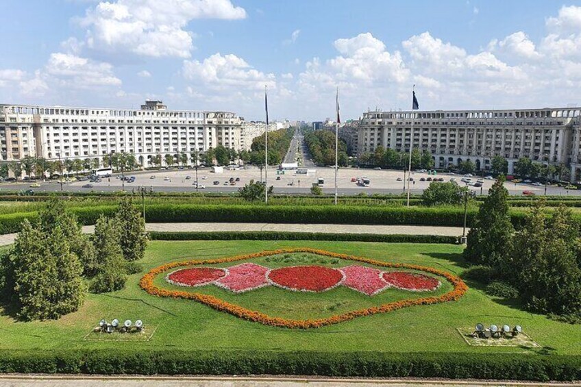
[[[382,146],[397,151],[430,151],[436,168],[472,160],[489,169],[500,155],[514,172],[519,158],[571,168],[581,178],[580,108],[527,110],[436,110],[367,112],[360,121],[357,154]],[[413,140],[411,138],[414,121]]]

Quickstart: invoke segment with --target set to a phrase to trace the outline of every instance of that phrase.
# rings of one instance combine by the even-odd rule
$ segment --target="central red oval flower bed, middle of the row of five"
[[[322,292],[341,284],[343,273],[323,266],[289,266],[269,273],[273,285],[302,292]]]

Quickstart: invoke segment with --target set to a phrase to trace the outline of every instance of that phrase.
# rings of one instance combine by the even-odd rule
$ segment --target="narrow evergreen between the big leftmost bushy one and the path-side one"
[[[121,249],[121,230],[116,219],[101,217],[95,223],[92,244],[98,262],[97,272],[90,284],[91,292],[112,292],[122,289],[127,282],[125,260]]]

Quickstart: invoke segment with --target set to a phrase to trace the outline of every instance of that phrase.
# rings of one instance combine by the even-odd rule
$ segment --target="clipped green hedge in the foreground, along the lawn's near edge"
[[[322,375],[546,382],[581,379],[581,356],[323,351],[0,351],[0,373]]]

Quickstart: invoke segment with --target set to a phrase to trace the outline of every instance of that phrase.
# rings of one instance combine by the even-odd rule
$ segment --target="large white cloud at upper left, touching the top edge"
[[[87,29],[90,49],[189,58],[193,34],[185,28],[190,21],[245,17],[244,8],[230,0],[117,0],[101,1],[79,23]]]

